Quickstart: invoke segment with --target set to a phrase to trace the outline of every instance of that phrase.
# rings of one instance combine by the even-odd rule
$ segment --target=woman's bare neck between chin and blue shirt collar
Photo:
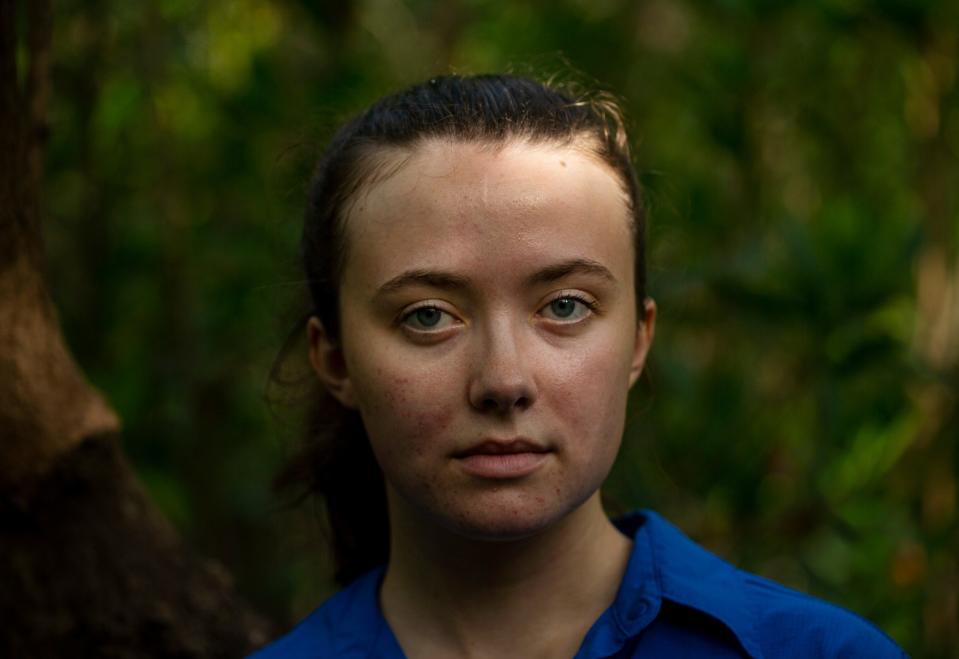
[[[534,536],[478,541],[395,514],[383,612],[407,656],[572,656],[612,603],[630,541],[594,494]]]

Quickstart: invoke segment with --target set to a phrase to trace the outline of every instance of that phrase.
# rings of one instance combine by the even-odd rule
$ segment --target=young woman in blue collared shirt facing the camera
[[[900,657],[600,487],[653,340],[616,106],[443,77],[334,138],[303,232],[325,392],[288,474],[346,587],[258,657]]]

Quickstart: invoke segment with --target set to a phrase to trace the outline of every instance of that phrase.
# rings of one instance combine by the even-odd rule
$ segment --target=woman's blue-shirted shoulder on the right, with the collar
[[[634,519],[639,521],[638,531],[649,538],[662,598],[720,623],[748,656],[905,656],[892,639],[864,618],[737,569],[655,513],[644,511]]]

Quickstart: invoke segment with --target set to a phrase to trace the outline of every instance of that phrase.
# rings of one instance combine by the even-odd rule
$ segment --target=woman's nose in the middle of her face
[[[536,400],[530,355],[524,354],[516,336],[521,331],[503,322],[480,338],[469,385],[470,405],[476,410],[509,414]]]

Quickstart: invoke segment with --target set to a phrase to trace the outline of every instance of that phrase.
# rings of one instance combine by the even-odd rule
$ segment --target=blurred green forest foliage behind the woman
[[[330,590],[264,402],[330,132],[437,72],[624,101],[660,323],[609,493],[734,563],[959,647],[959,5],[57,3],[50,276],[188,540],[280,627]]]

